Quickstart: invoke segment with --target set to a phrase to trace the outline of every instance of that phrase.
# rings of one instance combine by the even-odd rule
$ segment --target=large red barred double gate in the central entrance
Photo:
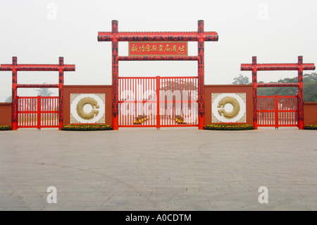
[[[197,77],[118,78],[119,127],[198,126]]]

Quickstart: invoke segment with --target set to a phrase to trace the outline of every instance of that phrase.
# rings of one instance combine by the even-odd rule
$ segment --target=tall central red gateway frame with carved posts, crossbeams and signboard
[[[204,20],[198,21],[197,32],[119,32],[118,20],[112,20],[111,32],[98,32],[99,42],[112,42],[112,127],[113,130],[118,130],[119,123],[119,102],[118,97],[118,84],[119,84],[119,61],[197,61],[198,67],[198,110],[199,110],[199,130],[204,129],[205,121],[205,109],[204,109],[204,43],[205,42],[218,42],[217,32],[204,31]],[[129,51],[129,56],[119,56],[118,54],[118,42],[130,42],[132,49]],[[170,46],[166,44],[164,49],[160,49],[156,44],[159,42],[169,42]],[[178,52],[176,42],[197,42],[197,56],[187,56],[183,47],[178,47],[182,54],[176,54]],[[136,44],[139,43],[139,44]],[[172,44],[173,43],[173,44]],[[130,44],[128,44],[130,46]],[[135,45],[134,45],[135,44]],[[144,46],[143,46],[144,44]],[[151,49],[150,49],[151,44]],[[186,44],[185,44],[186,45]],[[184,45],[184,47],[185,47]],[[138,47],[141,49],[139,49]],[[163,47],[163,45],[161,45]],[[130,46],[131,47],[131,46]],[[143,53],[141,53],[141,51]],[[165,51],[162,54],[162,50]],[[132,53],[135,51],[135,54]],[[151,54],[149,54],[149,51]],[[155,52],[154,52],[155,51]],[[169,51],[169,53],[167,53]],[[138,56],[137,56],[137,55]],[[159,107],[158,107],[159,108]],[[163,115],[162,115],[163,116]],[[161,116],[160,116],[161,118]],[[121,118],[122,120],[122,118]],[[159,119],[157,120],[160,122]],[[164,121],[162,121],[164,123]],[[130,123],[130,120],[129,120]],[[172,126],[172,123],[166,123]],[[163,125],[163,124],[162,124]],[[122,123],[121,123],[121,126]],[[130,126],[130,125],[125,125]],[[154,126],[154,124],[151,124]],[[157,126],[160,126],[159,124]]]

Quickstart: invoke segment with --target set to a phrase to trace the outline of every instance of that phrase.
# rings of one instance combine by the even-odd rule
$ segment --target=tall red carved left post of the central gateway
[[[112,20],[112,128],[118,130],[118,20]]]

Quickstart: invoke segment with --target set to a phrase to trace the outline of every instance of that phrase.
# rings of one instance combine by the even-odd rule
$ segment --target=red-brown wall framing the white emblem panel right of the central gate
[[[211,93],[238,93],[247,95],[247,124],[253,125],[252,85],[205,85],[205,125],[211,124]]]

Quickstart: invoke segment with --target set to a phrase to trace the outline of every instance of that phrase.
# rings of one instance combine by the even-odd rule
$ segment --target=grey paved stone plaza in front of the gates
[[[317,130],[19,129],[0,141],[0,210],[317,210]]]

